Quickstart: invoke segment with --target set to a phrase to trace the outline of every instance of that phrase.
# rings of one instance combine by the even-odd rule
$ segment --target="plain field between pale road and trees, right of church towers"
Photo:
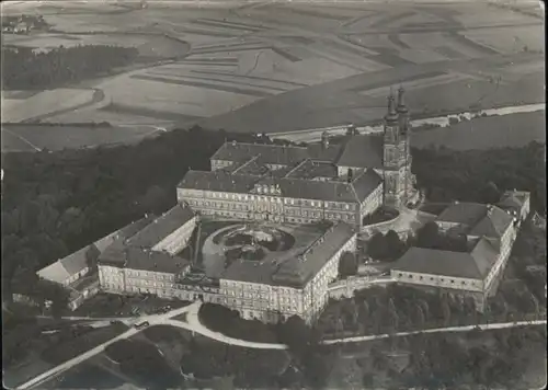
[[[448,127],[412,134],[415,148],[446,147],[457,150],[521,147],[546,142],[546,113],[521,113],[479,117]]]

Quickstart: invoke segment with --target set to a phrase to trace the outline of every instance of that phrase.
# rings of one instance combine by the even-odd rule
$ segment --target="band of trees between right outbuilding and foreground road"
[[[323,337],[343,337],[506,322],[540,316],[541,303],[528,289],[511,295],[499,291],[479,312],[471,296],[401,285],[374,286],[356,290],[353,298],[331,300],[316,328]]]

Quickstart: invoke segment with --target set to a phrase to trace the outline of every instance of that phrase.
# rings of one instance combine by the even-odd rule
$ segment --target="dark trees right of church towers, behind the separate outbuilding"
[[[486,203],[494,200],[499,191],[517,188],[529,191],[532,208],[546,213],[543,144],[468,151],[413,149],[412,154],[418,187],[432,202]]]

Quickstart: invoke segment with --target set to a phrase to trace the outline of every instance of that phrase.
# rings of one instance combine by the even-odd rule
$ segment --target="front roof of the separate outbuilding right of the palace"
[[[470,253],[411,248],[392,269],[420,274],[483,279],[496,261],[489,240],[480,239]]]

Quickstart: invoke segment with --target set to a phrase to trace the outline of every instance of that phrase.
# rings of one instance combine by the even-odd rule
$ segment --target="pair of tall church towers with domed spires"
[[[388,112],[385,115],[383,162],[385,179],[385,204],[399,207],[406,204],[407,198],[407,165],[408,122],[402,115],[407,110],[403,104],[403,94],[398,95],[398,110],[392,93],[388,96]],[[401,105],[400,105],[401,103]],[[402,111],[402,113],[400,113]]]

